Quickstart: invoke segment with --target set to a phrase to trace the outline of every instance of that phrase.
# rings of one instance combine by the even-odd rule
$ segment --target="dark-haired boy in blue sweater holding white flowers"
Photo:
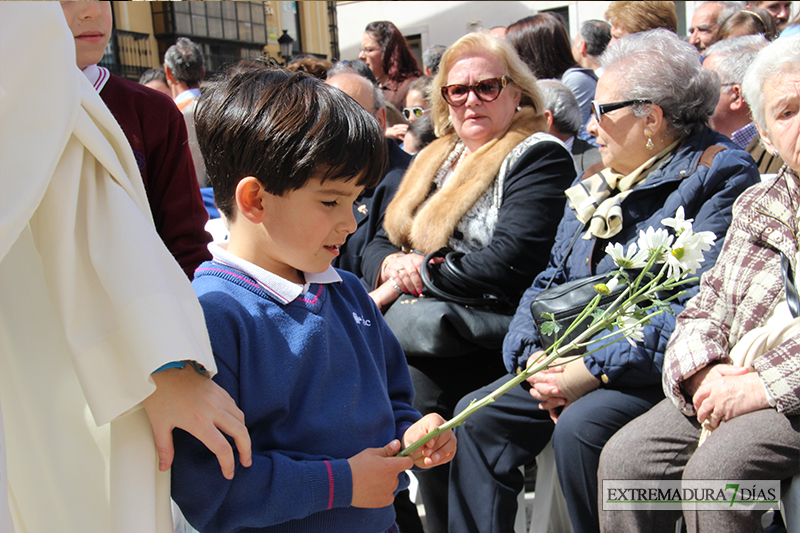
[[[400,345],[359,280],[330,266],[383,173],[383,132],[338,89],[279,69],[202,98],[197,138],[230,238],[193,284],[253,461],[225,479],[176,431],[173,498],[203,532],[397,531],[404,471],[450,461],[456,440],[395,457],[443,420],[411,407]]]

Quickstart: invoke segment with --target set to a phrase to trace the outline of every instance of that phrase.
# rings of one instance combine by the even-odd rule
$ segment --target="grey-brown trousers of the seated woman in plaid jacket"
[[[599,479],[781,479],[800,473],[800,416],[761,409],[723,422],[701,447],[696,417],[664,400],[603,450]],[[459,440],[459,453],[461,441]],[[598,492],[598,498],[602,494]],[[763,531],[764,511],[685,511],[690,533]],[[603,511],[603,531],[672,533],[681,511]]]

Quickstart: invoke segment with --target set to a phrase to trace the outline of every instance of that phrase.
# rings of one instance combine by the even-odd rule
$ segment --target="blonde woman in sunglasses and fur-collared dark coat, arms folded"
[[[571,156],[543,133],[535,78],[491,33],[468,34],[448,48],[433,85],[439,139],[412,161],[362,269],[375,286],[392,280],[398,295],[418,295],[424,254],[449,247],[464,252],[458,263],[465,274],[516,304],[546,265],[564,190],[575,178]],[[447,292],[477,296],[445,264],[433,268]],[[503,373],[499,349],[408,363],[414,406],[444,417],[465,393]],[[440,532],[447,527],[447,470],[435,470],[419,479],[428,526]]]

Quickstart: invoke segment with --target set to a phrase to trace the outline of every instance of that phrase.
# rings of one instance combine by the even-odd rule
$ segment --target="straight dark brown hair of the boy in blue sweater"
[[[323,181],[375,187],[388,160],[375,118],[302,72],[263,68],[223,76],[201,97],[195,124],[214,201],[231,220],[236,186],[247,176],[278,196],[320,170]]]

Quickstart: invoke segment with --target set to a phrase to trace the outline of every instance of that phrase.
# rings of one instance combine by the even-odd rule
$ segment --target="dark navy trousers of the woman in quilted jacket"
[[[457,410],[508,378],[465,396]],[[458,452],[450,465],[451,533],[511,533],[520,466],[531,463],[552,439],[556,469],[575,533],[599,531],[597,466],[603,445],[623,425],[664,397],[660,386],[598,389],[567,407],[553,424],[522,387],[506,393],[456,429]],[[534,517],[534,520],[546,520]]]

